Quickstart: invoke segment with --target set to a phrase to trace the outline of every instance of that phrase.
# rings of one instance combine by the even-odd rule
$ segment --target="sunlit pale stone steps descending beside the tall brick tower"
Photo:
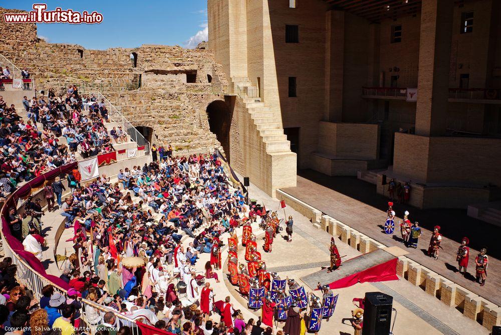
[[[266,151],[268,153],[291,151],[291,142],[287,140],[284,128],[270,107],[261,101],[258,88],[253,86],[247,77],[233,77],[232,81],[234,91],[243,99],[250,117],[260,132]]]

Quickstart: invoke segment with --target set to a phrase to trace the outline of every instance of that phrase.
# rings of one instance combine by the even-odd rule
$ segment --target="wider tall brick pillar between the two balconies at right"
[[[416,134],[445,133],[449,94],[452,0],[423,0],[419,41]]]

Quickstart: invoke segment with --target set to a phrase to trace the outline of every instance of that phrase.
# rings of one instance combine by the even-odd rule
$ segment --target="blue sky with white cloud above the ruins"
[[[142,44],[180,45],[194,48],[207,40],[207,0],[2,0],[8,9],[33,10],[34,3],[47,10],[61,7],[77,12],[96,11],[103,22],[94,25],[38,24],[39,37],[51,43],[79,44],[86,49],[134,48]]]

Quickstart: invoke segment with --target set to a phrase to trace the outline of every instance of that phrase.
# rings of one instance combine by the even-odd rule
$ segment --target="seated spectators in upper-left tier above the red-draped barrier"
[[[22,112],[18,108],[0,96],[2,197],[12,193],[21,182],[80,156],[114,151],[113,141],[127,141],[121,127],[108,133],[105,123],[109,117],[104,101],[97,101],[94,95],[81,96],[75,86],[61,94],[49,89],[47,96],[31,99],[25,96]],[[66,143],[60,141],[61,136]]]

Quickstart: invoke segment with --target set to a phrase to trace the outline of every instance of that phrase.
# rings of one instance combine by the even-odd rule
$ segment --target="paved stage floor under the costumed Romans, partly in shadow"
[[[282,191],[300,199],[334,219],[353,227],[357,231],[382,244],[387,246],[399,246],[406,249],[401,243],[401,236],[398,229],[395,229],[395,234],[393,236],[388,236],[382,231],[380,226],[386,219],[388,200],[382,196],[376,195],[374,185],[359,181],[355,178],[328,177],[311,171],[307,171],[305,175],[314,181],[298,176],[297,187],[283,189]],[[318,184],[319,182],[325,183],[328,187]],[[371,187],[374,189],[372,193],[370,193]],[[337,192],[335,189],[340,189],[341,192]],[[358,198],[358,194],[360,194],[360,198]],[[495,234],[495,232],[499,230],[497,227],[489,226],[488,224],[482,225],[478,220],[473,220],[471,218],[466,218],[465,221],[469,222],[471,219],[474,221],[474,225],[471,224],[470,226],[466,226],[456,218],[457,214],[455,214],[456,216],[454,216],[452,220],[446,220],[446,218],[437,215],[437,213],[440,213],[437,210],[420,211],[416,208],[404,205],[395,205],[395,207],[397,216],[399,217],[395,221],[395,226],[397,226],[398,220],[402,220],[403,212],[408,210],[410,212],[409,219],[411,221],[418,221],[422,228],[423,234],[419,240],[418,248],[406,249],[409,251],[406,257],[413,259],[430,270],[497,305],[501,304],[501,290],[498,284],[501,275],[501,263],[495,257],[495,250],[499,248],[498,243],[488,244],[490,250],[494,250],[494,257],[492,253],[490,253],[488,278],[485,286],[480,287],[479,284],[472,281],[474,280],[475,273],[474,258],[478,254],[478,249],[475,250],[470,248],[469,264],[467,268],[469,274],[466,278],[454,272],[457,266],[456,251],[459,246],[458,241],[462,236],[468,236],[473,245],[479,245],[479,243],[486,242],[486,240],[494,241],[497,239],[498,234]],[[445,211],[445,213],[449,212],[457,213],[458,211]],[[442,249],[440,249],[438,260],[434,260],[425,254],[428,249],[431,230],[435,225],[440,225],[442,227],[441,232],[443,237],[441,243]],[[479,231],[482,234],[483,241],[473,240],[472,236],[478,235]],[[449,238],[451,235],[460,237],[451,239]],[[489,255],[489,250],[487,250],[487,255]]]

